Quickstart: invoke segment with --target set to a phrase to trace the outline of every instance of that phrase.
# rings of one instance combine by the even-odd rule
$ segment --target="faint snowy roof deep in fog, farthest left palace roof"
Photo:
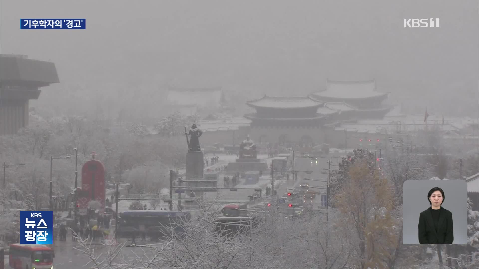
[[[224,100],[221,87],[179,88],[169,87],[167,100],[171,105],[217,107]]]

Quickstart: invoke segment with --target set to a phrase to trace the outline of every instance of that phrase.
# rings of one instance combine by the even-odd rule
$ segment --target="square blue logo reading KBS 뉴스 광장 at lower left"
[[[53,244],[53,212],[20,211],[20,244]]]

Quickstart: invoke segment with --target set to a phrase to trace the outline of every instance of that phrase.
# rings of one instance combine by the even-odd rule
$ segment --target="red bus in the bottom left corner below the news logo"
[[[52,269],[55,253],[46,245],[10,244],[10,267]]]

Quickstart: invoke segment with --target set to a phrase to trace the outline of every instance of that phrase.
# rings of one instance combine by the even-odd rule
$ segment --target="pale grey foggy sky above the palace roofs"
[[[55,62],[62,83],[51,87],[170,82],[298,95],[326,78],[376,78],[396,96],[478,98],[477,0],[1,0],[0,11],[1,53]],[[20,30],[21,18],[85,18],[87,30]],[[404,18],[440,18],[441,28],[403,28]]]

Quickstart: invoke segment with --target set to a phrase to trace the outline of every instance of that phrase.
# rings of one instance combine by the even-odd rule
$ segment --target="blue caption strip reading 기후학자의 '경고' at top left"
[[[20,29],[86,29],[85,19],[20,19]]]

